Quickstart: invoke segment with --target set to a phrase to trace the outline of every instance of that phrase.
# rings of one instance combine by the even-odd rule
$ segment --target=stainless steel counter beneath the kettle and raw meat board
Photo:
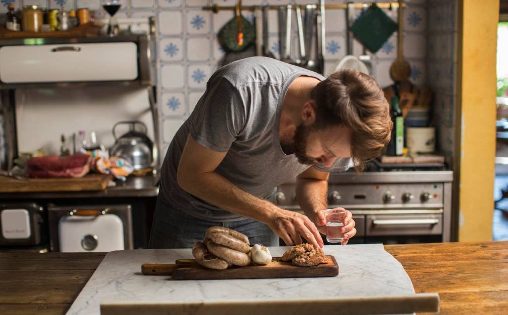
[[[27,198],[91,198],[91,197],[156,197],[158,194],[157,175],[128,177],[124,183],[116,183],[102,191],[67,192],[22,192],[0,194],[0,200]]]

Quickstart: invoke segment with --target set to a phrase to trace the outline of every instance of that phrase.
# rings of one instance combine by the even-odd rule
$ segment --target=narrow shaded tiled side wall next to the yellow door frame
[[[429,0],[427,84],[434,91],[437,149],[452,157],[457,100],[457,0]]]

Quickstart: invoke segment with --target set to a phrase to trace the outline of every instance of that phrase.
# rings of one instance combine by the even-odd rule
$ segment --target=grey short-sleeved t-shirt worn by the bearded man
[[[207,203],[182,190],[176,170],[187,135],[217,152],[227,152],[215,171],[240,189],[274,200],[278,185],[294,180],[309,166],[294,154],[284,154],[279,141],[282,103],[290,84],[299,76],[325,78],[275,59],[252,57],[230,63],[215,72],[196,109],[176,132],[161,172],[159,198],[196,218],[239,221],[244,218]],[[323,171],[345,171],[350,159],[338,159]]]

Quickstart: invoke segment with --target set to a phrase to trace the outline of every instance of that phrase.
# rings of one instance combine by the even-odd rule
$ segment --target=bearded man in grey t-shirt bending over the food
[[[351,160],[361,169],[392,128],[372,78],[343,71],[325,79],[263,57],[218,69],[168,148],[150,247],[189,248],[217,225],[251,244],[278,246],[281,237],[322,247],[329,172]],[[295,178],[306,216],[273,203],[276,186]],[[345,244],[356,229],[343,211]]]

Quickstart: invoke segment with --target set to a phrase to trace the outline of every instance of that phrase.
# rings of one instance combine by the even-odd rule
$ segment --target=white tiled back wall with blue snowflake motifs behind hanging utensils
[[[99,9],[107,0],[0,0],[0,13],[6,12],[7,4],[15,2],[17,7],[26,4],[39,4],[42,7],[67,9],[88,7]],[[328,0],[327,4],[346,3],[346,0]],[[367,1],[355,1],[357,3]],[[381,1],[377,1],[381,2]],[[196,102],[205,90],[206,82],[213,71],[220,64],[224,56],[217,41],[220,28],[233,16],[233,11],[219,11],[217,14],[205,11],[207,5],[234,6],[235,0],[120,0],[122,7],[119,17],[157,18],[156,56],[153,68],[157,71],[157,88],[159,91],[158,104],[160,106],[160,120],[162,132],[162,152],[166,151],[174,133],[183,121],[192,113]],[[243,0],[243,6],[253,5],[287,5],[315,4],[316,0]],[[427,47],[427,31],[433,20],[429,16],[427,0],[406,1],[408,8],[404,10],[404,55],[409,61],[412,73],[411,80],[418,85],[424,85],[430,67],[426,66],[427,53],[432,52]],[[386,13],[397,21],[397,10]],[[252,12],[242,14],[252,21]],[[325,55],[325,72],[333,71],[337,62],[346,55],[345,49],[345,11],[328,10],[326,18],[327,41]],[[360,11],[356,12],[359,15]],[[444,13],[443,13],[444,14]],[[104,16],[99,9],[97,16]],[[444,15],[442,15],[444,16]],[[270,48],[278,57],[278,27],[277,12],[270,11],[269,31]],[[296,29],[296,27],[294,27]],[[296,34],[295,34],[296,36]],[[446,39],[439,37],[439,40]],[[296,41],[294,41],[296,43]],[[296,53],[296,45],[293,51]],[[361,45],[355,41],[353,51],[355,55],[362,54]],[[373,64],[373,77],[380,86],[388,86],[389,69],[397,57],[397,33],[384,44],[376,54],[370,54]]]

